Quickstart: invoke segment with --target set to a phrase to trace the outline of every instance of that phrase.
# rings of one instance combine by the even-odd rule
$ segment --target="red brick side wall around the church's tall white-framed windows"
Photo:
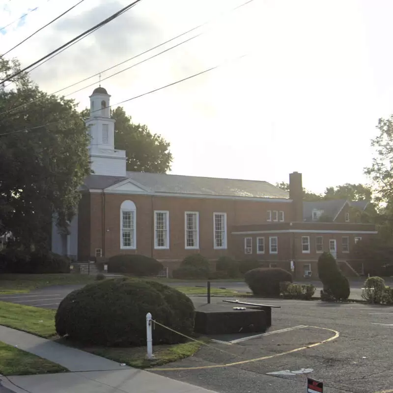
[[[230,247],[230,231],[233,225],[260,224],[266,222],[267,210],[284,211],[284,219],[291,215],[291,204],[267,201],[239,201],[231,199],[203,199],[181,197],[151,197],[139,195],[105,195],[105,227],[103,236],[103,194],[93,193],[90,198],[90,233],[80,233],[79,243],[86,244],[90,237],[91,255],[102,248],[103,255],[140,253],[159,260],[182,260],[190,253],[200,252],[210,259],[229,254],[228,250],[213,248],[213,213],[227,215],[227,244]],[[137,250],[120,250],[120,205],[132,200],[137,208]],[[154,210],[169,211],[169,250],[154,249]],[[199,250],[185,250],[185,211],[199,212]],[[84,218],[87,220],[87,217]],[[81,245],[81,252],[86,246]]]

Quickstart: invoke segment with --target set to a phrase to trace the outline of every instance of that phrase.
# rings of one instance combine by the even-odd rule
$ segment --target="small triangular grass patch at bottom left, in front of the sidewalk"
[[[68,371],[61,365],[0,341],[0,374],[31,375]]]

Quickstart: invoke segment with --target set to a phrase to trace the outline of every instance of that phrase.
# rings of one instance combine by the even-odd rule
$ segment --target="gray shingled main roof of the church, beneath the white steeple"
[[[127,172],[127,177],[90,175],[86,188],[105,189],[125,179],[155,193],[228,197],[288,198],[289,194],[266,181],[183,176],[165,173]]]

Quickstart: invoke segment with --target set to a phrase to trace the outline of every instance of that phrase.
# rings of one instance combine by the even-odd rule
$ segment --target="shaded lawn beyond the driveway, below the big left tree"
[[[2,274],[0,294],[29,292],[32,289],[51,285],[76,285],[93,282],[95,276],[77,273],[63,274]]]

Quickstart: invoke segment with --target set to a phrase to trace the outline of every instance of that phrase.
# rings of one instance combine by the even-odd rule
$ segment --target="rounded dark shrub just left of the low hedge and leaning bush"
[[[280,282],[292,282],[292,275],[281,268],[253,269],[244,278],[254,295],[267,297],[279,297]]]

